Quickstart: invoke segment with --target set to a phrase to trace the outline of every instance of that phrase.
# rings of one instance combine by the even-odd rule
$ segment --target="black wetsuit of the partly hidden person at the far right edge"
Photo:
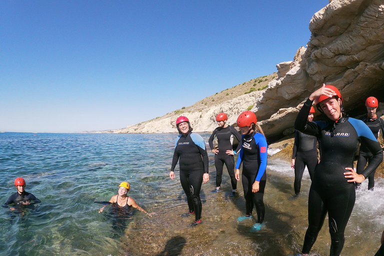
[[[384,121],[380,118],[367,118],[367,115],[364,114],[359,118],[362,120],[366,126],[369,127],[369,129],[372,131],[374,137],[377,139],[378,137],[378,131],[381,130],[381,134],[384,136]],[[366,165],[366,162],[368,163],[371,161],[373,155],[372,153],[366,148],[366,146],[361,145],[360,150],[358,151],[358,158],[357,158],[357,165],[356,165],[356,172],[358,174],[361,174],[361,172],[364,170],[364,167]],[[376,170],[376,169],[375,169]],[[373,170],[372,174],[368,176],[368,189],[373,190],[374,187],[374,172]],[[356,183],[356,188],[359,188],[361,184]]]

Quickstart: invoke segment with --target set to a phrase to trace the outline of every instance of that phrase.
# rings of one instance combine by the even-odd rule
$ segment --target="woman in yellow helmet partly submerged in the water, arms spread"
[[[121,209],[129,209],[129,208],[136,208],[146,214],[148,214],[149,216],[152,216],[153,214],[155,214],[154,212],[152,213],[148,213],[146,210],[144,210],[143,208],[141,208],[140,206],[137,205],[136,201],[128,196],[126,193],[129,191],[129,183],[128,182],[121,182],[120,185],[118,186],[118,193],[116,195],[113,195],[109,202],[111,204],[113,204],[114,206],[117,206]],[[107,205],[107,204],[106,204]],[[98,212],[102,212],[105,208],[105,206],[102,206]]]

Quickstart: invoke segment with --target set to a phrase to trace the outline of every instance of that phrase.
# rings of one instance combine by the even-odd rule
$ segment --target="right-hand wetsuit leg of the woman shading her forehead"
[[[328,191],[328,222],[331,239],[329,256],[339,256],[344,245],[344,230],[355,201],[353,184]]]

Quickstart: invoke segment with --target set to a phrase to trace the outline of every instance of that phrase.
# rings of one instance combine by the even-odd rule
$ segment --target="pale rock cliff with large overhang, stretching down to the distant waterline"
[[[231,100],[188,110],[195,131],[212,131],[214,116],[228,113],[229,123],[253,105],[269,141],[293,131],[300,103],[322,83],[335,85],[352,116],[365,111],[364,100],[384,101],[384,2],[383,0],[332,0],[309,23],[307,48],[297,50],[293,61],[277,64],[277,78],[266,89]],[[180,115],[162,117],[113,132],[174,132]]]

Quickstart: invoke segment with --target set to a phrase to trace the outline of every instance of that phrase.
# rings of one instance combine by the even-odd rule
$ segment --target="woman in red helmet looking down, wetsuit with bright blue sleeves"
[[[240,165],[242,162],[241,181],[245,197],[245,217],[252,217],[253,205],[256,207],[257,223],[253,228],[258,229],[264,220],[265,206],[263,202],[266,183],[267,143],[256,115],[252,111],[244,111],[237,117],[237,126],[241,130],[241,149],[237,158],[235,177],[240,180]]]

